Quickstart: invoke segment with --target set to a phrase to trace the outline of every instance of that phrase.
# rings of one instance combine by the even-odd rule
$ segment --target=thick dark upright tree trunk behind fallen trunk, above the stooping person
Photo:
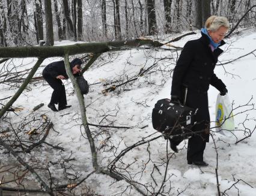
[[[44,13],[46,21],[46,45],[53,46],[52,2],[50,0],[44,0]]]

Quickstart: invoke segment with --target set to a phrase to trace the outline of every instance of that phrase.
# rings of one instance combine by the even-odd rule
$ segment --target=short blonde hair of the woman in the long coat
[[[230,29],[230,23],[228,22],[228,19],[226,17],[222,16],[210,16],[206,20],[206,24],[204,27],[207,29],[207,31],[217,31],[221,26],[224,26],[227,29]]]

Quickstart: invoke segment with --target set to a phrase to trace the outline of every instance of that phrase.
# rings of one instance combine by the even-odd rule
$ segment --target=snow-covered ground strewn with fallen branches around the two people
[[[172,44],[182,47],[186,41],[199,37],[199,33],[190,35]],[[222,46],[225,53],[219,58],[221,63],[239,58],[255,50],[255,29],[234,35],[225,41],[227,44]],[[72,43],[62,42],[56,44]],[[132,146],[148,135],[153,134],[147,139],[160,135],[151,125],[151,111],[158,99],[170,97],[171,70],[175,66],[179,53],[163,49],[132,49],[123,52],[106,53],[100,56],[93,67],[85,72],[84,76],[91,84],[90,93],[85,95],[88,122],[97,125],[132,127],[127,129],[90,126],[97,147],[98,162],[101,167],[107,167],[121,150]],[[234,108],[239,105],[245,105],[252,96],[255,98],[255,55],[256,52],[254,52],[254,55],[245,56],[224,65],[224,67],[216,66],[215,68],[216,75],[227,86],[228,95],[231,101],[234,101]],[[58,61],[58,59],[60,58],[44,60],[36,75],[41,76],[43,67],[52,61]],[[32,58],[15,59],[13,63],[25,65],[20,68],[22,70],[32,67],[35,61],[36,59]],[[221,64],[220,62],[219,64]],[[147,70],[153,64],[153,68],[142,76],[138,76],[141,69],[142,71]],[[111,85],[118,85],[137,77],[137,80],[120,86],[115,91],[106,94],[102,93],[103,89]],[[30,154],[26,155],[26,158],[28,160],[40,159],[42,165],[49,165],[52,176],[56,178],[56,181],[59,180],[61,184],[68,182],[63,177],[64,168],[61,167],[61,162],[58,162],[61,158],[75,158],[75,161],[66,162],[66,168],[68,168],[68,173],[81,174],[80,179],[93,171],[90,145],[84,129],[81,128],[82,122],[79,118],[78,99],[73,94],[70,80],[66,81],[65,85],[67,101],[68,104],[72,105],[71,108],[56,113],[49,110],[47,104],[50,100],[52,89],[46,82],[41,80],[40,82],[29,84],[28,91],[23,92],[14,103],[14,107],[22,107],[24,110],[17,113],[18,115],[11,114],[13,123],[20,122],[28,114],[34,114],[35,116],[46,114],[53,122],[55,131],[50,131],[46,141],[53,145],[59,144],[59,146],[64,147],[65,151],[62,152],[43,145],[44,147],[40,149],[32,150]],[[0,86],[0,99],[13,95],[17,90],[7,85],[0,84]],[[217,95],[218,91],[211,87],[209,90],[209,110],[212,120],[215,120]],[[254,102],[255,99],[252,99],[250,103]],[[40,103],[44,103],[44,106],[40,110],[32,112],[32,108]],[[233,114],[237,114],[234,118],[236,123],[234,135],[236,137],[230,134],[225,136],[213,132],[213,138],[218,148],[220,190],[224,192],[228,189],[225,191],[225,195],[256,195],[256,134],[254,133],[246,140],[235,144],[236,141],[246,136],[242,131],[245,129],[243,125],[251,129],[251,131],[255,128],[256,111],[249,110],[245,113],[240,113],[249,108],[251,106],[233,111]],[[245,120],[246,117],[248,120]],[[212,126],[215,126],[215,123],[212,123]],[[217,195],[215,143],[210,138],[210,142],[207,143],[204,152],[204,160],[209,163],[209,167],[199,168],[195,165],[187,165],[186,142],[183,141],[178,146],[179,152],[173,154],[169,146],[166,148],[166,140],[160,137],[127,152],[115,164],[116,170],[126,176],[127,179],[133,180],[133,184],[147,195],[151,195],[151,193],[146,192],[145,187],[141,185],[147,186],[148,190],[156,193],[162,185],[165,171],[166,182],[160,191],[163,195]],[[171,157],[167,170],[166,150],[168,150],[168,155]],[[6,155],[1,153],[1,156],[5,157]],[[50,164],[49,161],[58,162],[58,164]],[[239,181],[238,183],[236,183],[237,180]],[[236,185],[232,186],[234,183]],[[121,194],[123,191],[123,195],[141,195],[135,188],[130,187],[126,181],[115,182],[111,177],[100,173],[92,174],[79,186],[82,188],[84,185],[90,186],[100,195]],[[79,188],[76,189],[79,190]]]

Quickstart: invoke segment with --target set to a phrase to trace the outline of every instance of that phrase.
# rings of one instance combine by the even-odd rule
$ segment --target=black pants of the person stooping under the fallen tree
[[[43,78],[53,88],[52,98],[50,98],[51,104],[58,104],[58,107],[67,105],[66,90],[60,79],[55,79],[51,76],[43,74]]]

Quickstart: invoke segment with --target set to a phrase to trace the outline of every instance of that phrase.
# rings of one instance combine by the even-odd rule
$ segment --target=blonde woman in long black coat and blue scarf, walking
[[[186,105],[198,108],[192,131],[196,132],[189,138],[187,146],[187,164],[207,166],[203,159],[206,142],[209,142],[210,115],[207,91],[209,85],[214,86],[225,95],[228,90],[224,83],[214,73],[218,56],[223,52],[219,46],[230,25],[227,18],[211,16],[201,29],[201,38],[188,41],[174,68],[171,86],[172,101],[183,102],[184,89],[187,88]],[[177,145],[181,141],[172,140],[171,149],[178,152]]]

